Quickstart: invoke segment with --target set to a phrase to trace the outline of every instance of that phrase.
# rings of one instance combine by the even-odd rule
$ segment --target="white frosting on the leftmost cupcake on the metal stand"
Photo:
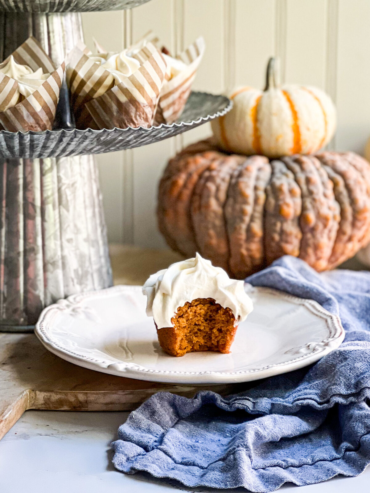
[[[7,64],[0,68],[0,72],[18,81],[18,91],[12,98],[12,104],[8,104],[7,108],[14,106],[20,94],[28,98],[50,76],[49,73],[42,73],[41,67],[34,72],[28,65],[18,64],[13,55],[10,55]]]

